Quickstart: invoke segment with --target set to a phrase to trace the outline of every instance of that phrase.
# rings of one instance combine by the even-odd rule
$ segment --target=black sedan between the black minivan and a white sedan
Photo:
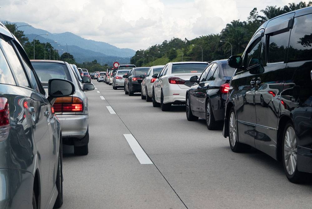
[[[209,130],[222,127],[224,105],[229,90],[229,82],[235,68],[227,64],[227,60],[211,62],[202,75],[191,77],[195,82],[186,92],[186,117],[189,121],[206,119]]]

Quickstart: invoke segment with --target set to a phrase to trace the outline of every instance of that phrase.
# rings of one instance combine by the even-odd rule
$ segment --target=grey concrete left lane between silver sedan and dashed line
[[[64,146],[62,208],[183,208],[155,166],[139,163],[123,136],[129,130],[107,101],[96,91],[87,95],[89,154]]]

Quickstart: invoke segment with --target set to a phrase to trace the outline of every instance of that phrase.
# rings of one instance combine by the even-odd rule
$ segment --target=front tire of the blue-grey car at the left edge
[[[56,201],[53,208],[60,208],[63,205],[63,142],[60,139],[60,151],[58,157],[58,166],[56,174],[56,189],[58,191]]]

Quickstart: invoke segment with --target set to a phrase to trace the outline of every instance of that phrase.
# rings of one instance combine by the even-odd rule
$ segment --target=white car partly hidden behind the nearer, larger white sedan
[[[142,83],[141,83],[141,99],[146,99],[147,102],[152,101],[153,94],[153,83],[156,78],[153,78],[152,75],[159,73],[163,69],[164,65],[152,66],[146,73]]]

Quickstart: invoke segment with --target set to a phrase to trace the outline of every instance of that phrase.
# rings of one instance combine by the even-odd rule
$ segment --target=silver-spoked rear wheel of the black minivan
[[[297,169],[297,137],[291,122],[288,122],[285,126],[282,146],[285,174],[290,182],[299,183],[300,180],[304,179],[302,176],[305,173]]]

